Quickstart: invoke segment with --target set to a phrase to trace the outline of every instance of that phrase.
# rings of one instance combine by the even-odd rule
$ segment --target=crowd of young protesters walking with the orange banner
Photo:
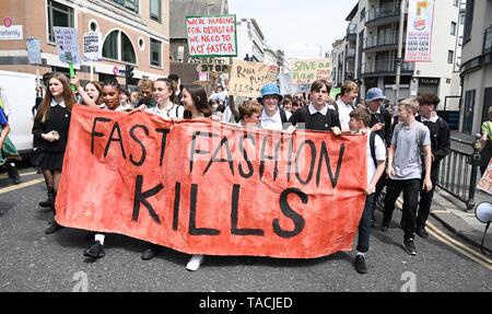
[[[336,136],[343,132],[367,133],[366,201],[359,225],[358,253],[354,258],[356,271],[367,271],[370,234],[371,229],[376,226],[375,205],[385,187],[380,232],[387,232],[395,202],[402,193],[400,226],[403,230],[403,249],[415,255],[414,234],[422,239],[429,236],[425,222],[440,161],[450,151],[449,128],[436,114],[440,104],[436,95],[422,94],[402,100],[395,115],[397,118],[394,119],[386,108],[387,100],[380,89],[370,89],[364,95],[365,100],[358,103],[359,85],[351,81],[343,83],[335,100],[329,96],[330,83],[324,80],[313,82],[307,95],[282,95],[276,83],[268,83],[257,98],[239,100],[227,95],[223,85],[216,86],[210,96],[199,85],[181,86],[176,74],[156,81],[143,79],[139,82],[138,92],[131,93],[125,91],[115,79],[102,84],[86,82],[83,86],[77,77],[68,79],[61,73],[50,73],[44,79],[46,91],[34,111],[36,151],[32,162],[43,171],[48,191],[48,199],[39,206],[51,208],[54,214],[71,111],[75,105],[86,105],[115,112],[140,111],[167,120],[210,118],[289,133],[298,128],[329,131]],[[75,88],[75,92],[71,91],[70,84]],[[3,144],[8,124],[1,113],[0,144]],[[490,143],[492,123],[485,123],[482,130],[483,141]],[[61,228],[54,221],[46,233],[54,233]],[[105,236],[95,234],[83,255],[94,259],[104,257]],[[149,244],[141,258],[149,260],[159,251],[160,246]],[[197,270],[203,259],[202,255],[191,256],[187,269]]]

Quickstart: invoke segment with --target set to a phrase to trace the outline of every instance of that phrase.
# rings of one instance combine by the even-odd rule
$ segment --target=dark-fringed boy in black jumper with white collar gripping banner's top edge
[[[311,85],[311,103],[294,112],[289,119],[291,126],[288,131],[293,132],[295,128],[302,127],[307,130],[333,131],[340,135],[340,120],[338,113],[330,109],[327,100],[330,94],[330,84],[325,80],[315,81]]]

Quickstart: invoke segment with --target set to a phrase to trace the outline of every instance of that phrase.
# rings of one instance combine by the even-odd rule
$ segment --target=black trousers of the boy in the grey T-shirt
[[[395,211],[395,202],[403,191],[403,231],[405,240],[413,239],[415,232],[417,208],[419,206],[419,193],[421,179],[388,179],[386,182],[385,211],[383,225],[388,226]]]

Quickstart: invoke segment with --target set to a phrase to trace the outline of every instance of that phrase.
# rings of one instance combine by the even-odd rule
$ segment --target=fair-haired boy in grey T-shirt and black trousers
[[[431,137],[426,126],[415,120],[419,103],[414,98],[403,100],[398,106],[399,124],[395,127],[391,146],[388,151],[385,211],[382,231],[386,232],[391,221],[395,202],[403,191],[403,247],[410,255],[415,255],[413,243],[415,217],[420,189],[432,189],[431,181]],[[424,154],[425,175],[422,183],[422,156]]]

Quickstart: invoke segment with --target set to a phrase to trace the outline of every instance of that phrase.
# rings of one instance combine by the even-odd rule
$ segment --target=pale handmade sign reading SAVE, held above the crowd
[[[297,59],[292,62],[292,83],[311,85],[316,80],[331,82],[330,59]]]

